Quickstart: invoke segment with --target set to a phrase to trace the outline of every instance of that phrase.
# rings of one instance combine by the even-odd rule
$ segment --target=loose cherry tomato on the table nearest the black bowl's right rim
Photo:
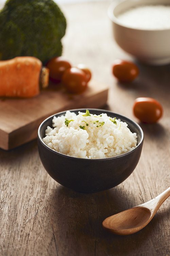
[[[163,108],[160,103],[153,98],[141,97],[134,101],[134,115],[142,123],[156,123],[163,115]]]

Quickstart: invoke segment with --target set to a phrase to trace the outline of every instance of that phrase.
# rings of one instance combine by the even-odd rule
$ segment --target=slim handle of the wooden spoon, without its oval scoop
[[[159,196],[155,197],[154,199],[142,204],[142,207],[147,207],[151,211],[151,215],[154,215],[159,207],[164,203],[164,201],[170,196],[170,187],[166,189],[163,193]]]

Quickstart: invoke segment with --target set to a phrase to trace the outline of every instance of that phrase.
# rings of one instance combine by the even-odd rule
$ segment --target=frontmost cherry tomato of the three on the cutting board
[[[79,94],[86,90],[86,74],[79,68],[68,68],[62,76],[63,85],[70,93]]]

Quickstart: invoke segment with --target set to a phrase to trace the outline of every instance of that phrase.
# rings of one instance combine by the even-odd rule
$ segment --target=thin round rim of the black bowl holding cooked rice
[[[140,131],[140,135],[141,135],[141,139],[140,139],[140,142],[138,143],[138,141],[137,141],[137,146],[134,148],[134,149],[132,149],[131,151],[128,151],[128,152],[126,152],[126,153],[123,153],[123,154],[120,154],[120,155],[118,155],[118,156],[114,156],[114,157],[107,157],[107,158],[77,158],[77,157],[73,157],[73,156],[68,156],[68,155],[66,155],[66,154],[63,154],[63,153],[60,153],[60,152],[57,152],[57,151],[55,151],[54,149],[51,149],[50,147],[48,147],[46,144],[45,144],[45,142],[43,141],[43,139],[41,138],[41,135],[40,135],[40,130],[41,130],[41,127],[43,126],[43,124],[47,121],[47,120],[49,120],[50,118],[52,118],[52,117],[54,117],[54,116],[56,116],[56,115],[62,115],[62,114],[64,114],[64,113],[66,113],[66,111],[70,111],[70,112],[74,112],[74,111],[85,111],[86,109],[88,109],[89,111],[90,110],[97,110],[97,111],[103,111],[103,113],[104,112],[108,112],[108,113],[114,113],[115,115],[118,115],[118,116],[121,116],[121,117],[123,117],[123,118],[125,118],[125,119],[129,119],[137,128],[138,128],[138,130]],[[122,115],[122,114],[119,114],[119,113],[117,113],[117,112],[113,112],[113,111],[110,111],[110,110],[105,110],[105,109],[97,109],[97,108],[80,108],[80,109],[68,109],[68,110],[64,110],[64,111],[61,111],[61,112],[58,112],[58,113],[55,113],[55,114],[53,114],[53,115],[51,115],[50,117],[48,117],[48,118],[46,118],[43,122],[41,122],[41,124],[39,125],[39,127],[38,127],[38,139],[39,139],[39,141],[40,141],[40,143],[43,145],[43,146],[45,146],[48,150],[50,150],[51,152],[53,152],[54,154],[56,154],[56,155],[61,155],[61,156],[64,156],[64,157],[67,157],[67,158],[73,158],[73,159],[80,159],[81,161],[82,160],[84,160],[84,161],[95,161],[95,160],[100,160],[100,161],[106,161],[107,159],[115,159],[115,158],[121,158],[122,156],[124,156],[124,155],[127,155],[127,154],[131,154],[133,151],[135,151],[135,150],[137,150],[137,148],[143,143],[143,140],[144,140],[144,134],[143,134],[143,130],[141,129],[141,127],[140,127],[140,125],[138,124],[138,123],[136,123],[134,120],[132,120],[131,118],[129,118],[129,117],[126,117],[126,116],[124,116],[124,115]],[[129,124],[128,124],[129,125]],[[79,161],[79,160],[78,160]]]

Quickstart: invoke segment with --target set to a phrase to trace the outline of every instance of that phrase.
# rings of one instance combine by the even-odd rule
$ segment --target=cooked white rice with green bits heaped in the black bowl
[[[137,135],[129,130],[127,123],[120,119],[115,119],[114,123],[106,113],[98,116],[84,114],[66,111],[65,116],[54,116],[54,128],[47,126],[46,137],[43,138],[45,144],[57,152],[77,158],[115,157],[136,147]],[[65,119],[74,121],[67,126]]]

